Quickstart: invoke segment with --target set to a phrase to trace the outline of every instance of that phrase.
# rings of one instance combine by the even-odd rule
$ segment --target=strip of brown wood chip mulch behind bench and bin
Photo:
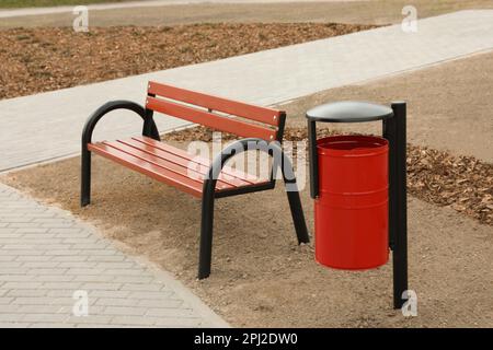
[[[319,136],[334,135],[320,129]],[[163,136],[169,141],[211,141],[211,130],[195,127]],[[236,139],[222,133],[222,140]],[[286,128],[285,140],[307,140],[305,128]],[[456,156],[426,147],[408,144],[408,190],[442,207],[450,207],[479,222],[493,225],[493,164],[473,156]]]

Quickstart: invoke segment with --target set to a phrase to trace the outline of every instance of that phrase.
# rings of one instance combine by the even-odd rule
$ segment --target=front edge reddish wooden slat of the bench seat
[[[202,183],[153,165],[102,143],[89,143],[88,149],[136,172],[169,184],[196,197],[202,197]]]

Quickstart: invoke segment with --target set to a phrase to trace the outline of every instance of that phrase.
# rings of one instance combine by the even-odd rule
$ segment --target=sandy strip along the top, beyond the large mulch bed
[[[289,2],[256,4],[188,4],[159,8],[92,11],[90,26],[172,25],[205,22],[340,22],[388,24],[402,21],[404,5],[417,9],[419,18],[465,9],[493,8],[492,0],[372,0],[354,2]],[[2,19],[1,27],[71,26],[71,13]]]

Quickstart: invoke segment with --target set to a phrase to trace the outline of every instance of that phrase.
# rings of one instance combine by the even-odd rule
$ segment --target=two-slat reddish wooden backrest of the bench
[[[157,82],[149,82],[146,108],[215,130],[266,141],[282,141],[286,118],[282,110]]]

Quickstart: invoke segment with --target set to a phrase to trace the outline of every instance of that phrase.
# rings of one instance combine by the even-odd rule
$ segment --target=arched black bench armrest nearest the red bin
[[[286,183],[287,190],[297,191],[296,185],[296,176],[295,171],[293,168],[293,163],[288,156],[283,152],[280,143],[278,141],[267,142],[263,139],[257,138],[248,138],[238,140],[227,148],[225,148],[220,154],[218,154],[207,173],[207,176],[204,180],[204,194],[214,194],[216,188],[216,182],[221,173],[222,167],[228,162],[229,159],[233,158],[237,154],[246,151],[261,151],[266,152],[268,155],[273,158],[273,167],[271,173],[271,182],[275,182],[277,168],[280,166],[283,172],[283,178]]]

